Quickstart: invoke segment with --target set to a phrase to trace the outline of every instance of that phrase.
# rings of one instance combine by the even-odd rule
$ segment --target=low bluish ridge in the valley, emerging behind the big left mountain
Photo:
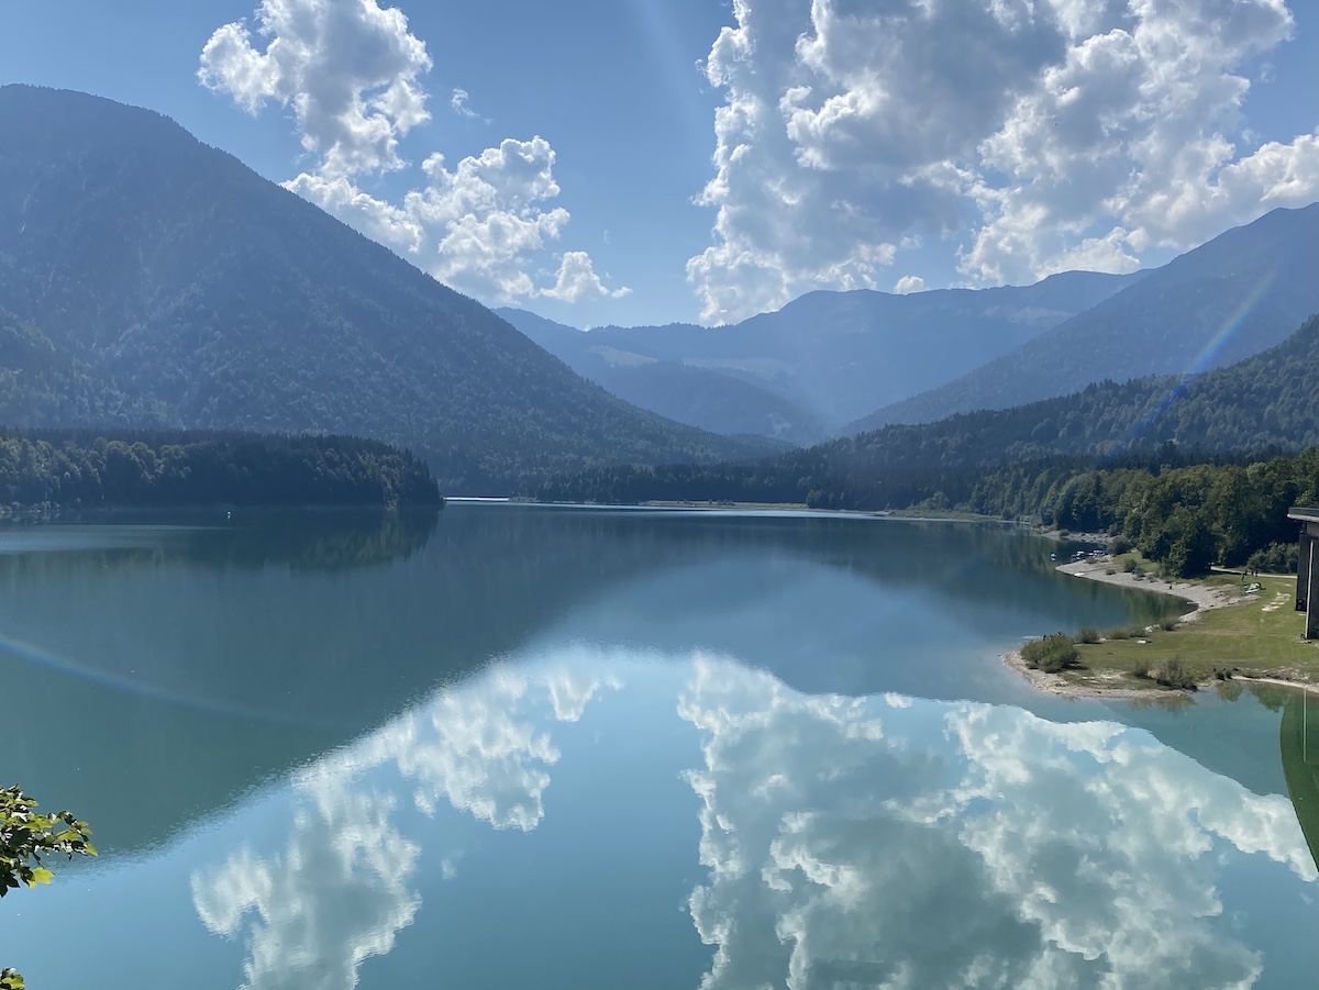
[[[619,351],[605,344],[601,334],[586,334],[526,310],[496,312],[583,378],[679,423],[716,434],[772,436],[790,444],[815,443],[828,435],[816,417],[754,382]]]

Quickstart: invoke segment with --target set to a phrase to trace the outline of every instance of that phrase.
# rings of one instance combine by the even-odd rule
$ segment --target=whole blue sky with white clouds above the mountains
[[[0,3],[0,82],[574,326],[1161,264],[1319,199],[1316,49],[1319,0]]]

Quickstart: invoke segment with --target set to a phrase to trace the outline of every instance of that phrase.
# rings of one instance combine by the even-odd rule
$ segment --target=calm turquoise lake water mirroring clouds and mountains
[[[1031,692],[1166,605],[992,526],[451,505],[0,530],[65,987],[1299,987],[1277,695]]]

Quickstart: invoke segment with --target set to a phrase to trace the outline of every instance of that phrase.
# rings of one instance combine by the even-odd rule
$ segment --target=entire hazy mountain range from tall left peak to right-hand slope
[[[356,434],[413,448],[450,493],[1202,370],[1319,310],[1315,204],[1132,276],[819,291],[715,328],[504,310],[518,332],[150,111],[8,86],[0,133],[0,424]],[[1116,414],[1089,415],[1059,435],[1101,442]]]

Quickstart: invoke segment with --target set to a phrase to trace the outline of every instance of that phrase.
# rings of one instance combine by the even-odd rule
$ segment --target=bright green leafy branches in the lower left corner
[[[37,801],[17,784],[0,788],[0,898],[26,885],[50,883],[55,875],[42,857],[95,856],[91,828],[73,812],[38,815]],[[22,990],[22,977],[12,969],[0,970],[0,990]]]

